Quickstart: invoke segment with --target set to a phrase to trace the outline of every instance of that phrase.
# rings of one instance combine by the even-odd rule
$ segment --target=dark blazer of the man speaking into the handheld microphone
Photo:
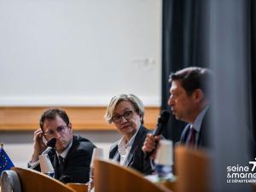
[[[198,140],[196,143],[196,148],[209,148],[210,143],[209,143],[209,130],[210,130],[210,125],[211,125],[211,116],[209,112],[209,108],[207,109],[207,113],[205,114],[202,123],[201,123],[201,130],[199,131],[198,135]],[[187,140],[189,139],[189,131],[190,131],[190,124],[186,125],[181,137],[180,137],[180,142],[182,144],[186,144]]]

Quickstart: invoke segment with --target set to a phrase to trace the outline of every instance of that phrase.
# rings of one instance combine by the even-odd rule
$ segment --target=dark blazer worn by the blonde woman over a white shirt
[[[145,154],[143,153],[143,143],[147,134],[150,131],[146,129],[143,125],[141,125],[140,129],[137,132],[137,135],[134,139],[134,143],[131,146],[130,153],[127,156],[127,160],[124,166],[130,166],[133,169],[136,169],[143,174],[151,174],[153,172],[151,168],[150,158],[145,159]],[[118,151],[118,143],[113,143],[109,152],[109,159],[113,159],[116,161],[120,161],[120,154]]]

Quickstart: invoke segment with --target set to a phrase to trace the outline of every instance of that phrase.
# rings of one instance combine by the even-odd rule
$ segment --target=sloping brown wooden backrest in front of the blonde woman
[[[94,186],[96,192],[170,192],[156,185],[131,168],[107,160],[95,160]]]

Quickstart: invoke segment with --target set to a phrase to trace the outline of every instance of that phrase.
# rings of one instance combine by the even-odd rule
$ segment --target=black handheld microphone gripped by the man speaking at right
[[[168,122],[168,119],[170,117],[170,112],[163,110],[160,114],[160,116],[158,117],[157,120],[157,125],[156,125],[156,129],[153,131],[153,136],[159,136],[161,134],[161,132],[164,130],[164,125],[166,125],[166,123]],[[156,143],[157,144],[157,143]],[[150,151],[150,152],[146,152],[146,160],[148,160],[148,157],[151,156],[151,154],[154,153],[154,150]]]

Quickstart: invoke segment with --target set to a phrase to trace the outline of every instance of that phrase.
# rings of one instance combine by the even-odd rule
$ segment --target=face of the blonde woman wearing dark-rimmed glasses
[[[119,121],[119,122],[115,122]],[[131,102],[119,102],[113,112],[113,124],[119,132],[130,139],[141,126],[141,117],[133,108]]]

